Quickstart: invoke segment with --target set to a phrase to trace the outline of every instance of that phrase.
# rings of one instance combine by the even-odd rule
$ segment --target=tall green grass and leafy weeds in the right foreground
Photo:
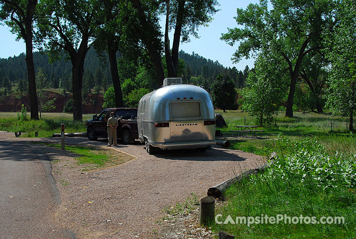
[[[355,238],[355,151],[333,153],[314,139],[279,138],[277,160],[264,173],[251,176],[226,192],[228,203],[217,214],[260,216],[300,215],[345,217],[346,224],[227,224],[210,225],[236,238]],[[223,221],[224,221],[223,219]],[[235,220],[234,220],[235,221]]]

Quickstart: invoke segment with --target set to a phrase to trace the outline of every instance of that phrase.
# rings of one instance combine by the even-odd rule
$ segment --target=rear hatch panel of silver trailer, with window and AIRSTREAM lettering
[[[170,141],[186,142],[203,139],[203,120],[200,102],[172,102]]]

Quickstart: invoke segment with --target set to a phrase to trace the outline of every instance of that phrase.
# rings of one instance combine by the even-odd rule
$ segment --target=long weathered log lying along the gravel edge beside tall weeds
[[[214,198],[220,198],[223,195],[223,193],[226,191],[226,189],[228,189],[236,181],[238,182],[249,175],[263,172],[267,167],[269,167],[269,165],[273,162],[273,160],[275,159],[276,156],[277,156],[277,154],[275,152],[273,152],[271,154],[269,162],[263,164],[262,166],[260,166],[258,168],[253,168],[253,169],[247,170],[246,172],[243,172],[231,179],[228,179],[218,185],[215,185],[214,187],[209,188],[208,193],[207,193],[208,196],[212,196]]]

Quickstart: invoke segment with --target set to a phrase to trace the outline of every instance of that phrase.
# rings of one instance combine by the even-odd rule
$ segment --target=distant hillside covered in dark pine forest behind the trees
[[[49,87],[57,89],[64,88],[71,91],[71,77],[72,77],[72,65],[69,60],[66,60],[64,53],[60,55],[61,59],[50,63],[48,54],[34,52],[33,61],[35,66],[35,72],[41,68],[44,72],[47,80],[49,81]],[[119,58],[119,54],[117,54]],[[103,58],[103,59],[102,59]],[[230,77],[236,82],[236,88],[242,88],[245,81],[248,67],[244,72],[234,68],[225,68],[218,61],[206,59],[196,53],[188,54],[184,51],[179,52],[179,58],[184,61],[184,71],[181,77],[185,80],[189,77],[189,83],[196,85],[203,85],[205,82],[212,82],[219,74],[229,74]],[[108,57],[99,58],[95,49],[91,48],[88,51],[87,57],[84,63],[84,82],[92,81],[89,85],[94,88],[98,82],[102,82],[103,79],[97,79],[102,77],[106,79],[108,85],[112,85],[111,73],[109,69]],[[190,78],[193,77],[193,80]],[[27,69],[25,64],[24,53],[8,57],[7,59],[0,59],[0,87],[5,87],[3,78],[7,78],[12,85],[18,84],[20,80],[27,79]],[[125,77],[124,77],[125,78]],[[121,81],[125,79],[121,77]]]

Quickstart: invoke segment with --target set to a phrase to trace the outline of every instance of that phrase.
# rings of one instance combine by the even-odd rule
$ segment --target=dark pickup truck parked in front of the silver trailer
[[[99,116],[94,115],[93,119],[85,122],[88,138],[90,140],[97,140],[98,137],[108,137],[107,121],[112,112],[115,113],[117,119],[120,119],[120,125],[117,128],[118,138],[124,144],[134,142],[138,138],[136,108],[109,108],[103,110]]]

